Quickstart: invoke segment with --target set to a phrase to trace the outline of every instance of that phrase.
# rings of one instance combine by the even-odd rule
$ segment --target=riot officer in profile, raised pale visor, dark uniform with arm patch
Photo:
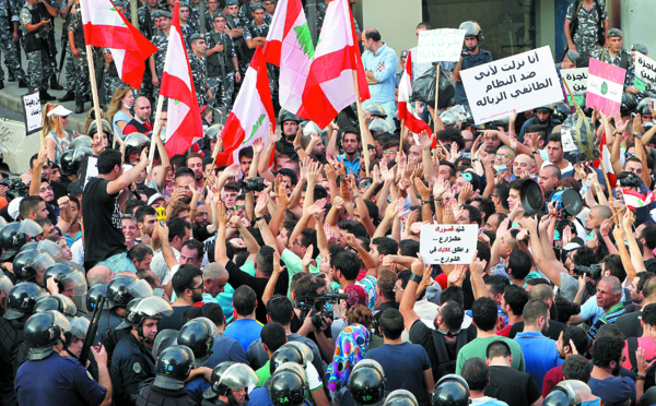
[[[145,342],[157,334],[157,320],[173,314],[171,304],[155,296],[137,298],[128,303],[125,320],[117,329],[128,335],[116,345],[112,355],[112,380],[117,405],[133,405],[139,395],[139,384],[155,377],[155,359]]]

